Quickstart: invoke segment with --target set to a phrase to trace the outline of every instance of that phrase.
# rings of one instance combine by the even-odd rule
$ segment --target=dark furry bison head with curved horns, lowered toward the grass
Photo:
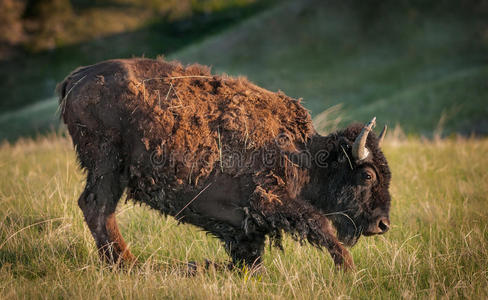
[[[355,124],[327,137],[327,164],[316,167],[316,203],[332,221],[338,239],[353,246],[361,235],[383,234],[390,227],[391,173],[379,137],[366,126]]]

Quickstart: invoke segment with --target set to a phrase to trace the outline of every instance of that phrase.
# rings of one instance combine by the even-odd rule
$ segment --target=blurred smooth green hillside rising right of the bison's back
[[[355,5],[289,2],[174,57],[303,97],[313,115],[342,104],[344,122],[376,115],[411,134],[431,136],[438,125],[487,134],[488,40],[479,22],[394,6],[364,20]]]

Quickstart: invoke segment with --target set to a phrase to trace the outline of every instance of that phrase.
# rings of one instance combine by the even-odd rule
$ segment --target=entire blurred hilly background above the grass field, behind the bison
[[[58,128],[80,65],[164,55],[304,99],[321,130],[488,134],[488,0],[2,0],[0,140]]]

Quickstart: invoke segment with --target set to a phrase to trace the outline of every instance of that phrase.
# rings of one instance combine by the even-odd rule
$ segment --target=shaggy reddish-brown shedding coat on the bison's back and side
[[[96,169],[111,157],[137,182],[133,193],[201,187],[216,172],[256,173],[264,167],[244,163],[253,154],[296,151],[315,134],[299,100],[201,65],[106,61],[75,70],[58,93],[81,165]],[[239,161],[223,164],[229,152]]]

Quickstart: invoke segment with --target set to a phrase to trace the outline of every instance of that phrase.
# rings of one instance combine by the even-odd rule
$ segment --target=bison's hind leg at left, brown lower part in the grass
[[[122,192],[117,173],[101,176],[88,173],[85,190],[78,200],[100,257],[109,263],[135,262],[115,220],[115,209]]]

